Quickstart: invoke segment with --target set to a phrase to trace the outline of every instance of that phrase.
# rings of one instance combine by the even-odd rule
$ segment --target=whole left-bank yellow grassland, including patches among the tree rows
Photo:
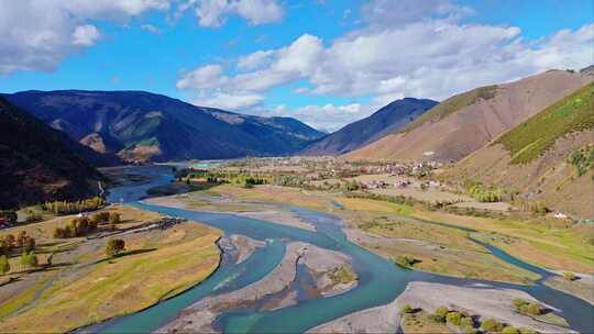
[[[152,212],[114,208],[129,229],[158,219]],[[19,280],[0,287],[0,332],[67,332],[136,312],[200,282],[219,265],[215,242],[220,232],[196,223],[166,230],[123,233],[127,252],[106,258],[107,237],[54,240],[47,231],[68,218],[31,224],[41,254],[53,253],[52,266],[15,271]],[[11,231],[13,232],[13,231]],[[50,234],[51,235],[51,234]]]

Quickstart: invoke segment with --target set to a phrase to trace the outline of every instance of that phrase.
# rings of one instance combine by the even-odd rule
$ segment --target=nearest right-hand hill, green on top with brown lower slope
[[[442,177],[501,187],[550,209],[594,219],[594,84],[504,133]]]

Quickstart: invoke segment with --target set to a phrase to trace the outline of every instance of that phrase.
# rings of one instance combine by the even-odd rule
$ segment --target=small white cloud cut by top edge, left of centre
[[[239,15],[251,25],[278,22],[284,10],[276,0],[189,0],[182,10],[195,8],[195,14],[201,26],[221,26],[230,15]]]

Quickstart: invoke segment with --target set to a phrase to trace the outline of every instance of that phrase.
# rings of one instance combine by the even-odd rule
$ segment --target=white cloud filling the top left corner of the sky
[[[101,36],[91,20],[124,22],[147,10],[165,10],[169,0],[2,0],[0,74],[53,70],[66,56]]]

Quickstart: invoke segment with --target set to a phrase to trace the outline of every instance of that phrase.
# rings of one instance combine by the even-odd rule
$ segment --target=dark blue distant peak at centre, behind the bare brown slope
[[[415,121],[438,102],[405,98],[377,110],[372,115],[333,132],[308,145],[300,155],[341,155],[373,143]]]

